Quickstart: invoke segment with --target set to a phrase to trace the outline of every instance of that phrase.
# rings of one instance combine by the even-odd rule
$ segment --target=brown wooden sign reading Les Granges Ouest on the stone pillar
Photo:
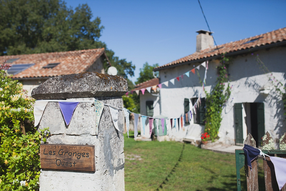
[[[94,145],[41,144],[41,168],[95,171]]]

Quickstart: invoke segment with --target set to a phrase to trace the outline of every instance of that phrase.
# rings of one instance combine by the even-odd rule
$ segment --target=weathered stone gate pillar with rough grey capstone
[[[35,99],[92,100],[123,108],[121,96],[128,90],[120,76],[100,73],[60,75],[50,78],[32,91]],[[123,132],[124,112],[119,110],[118,126]],[[124,137],[115,129],[108,106],[95,133],[94,104],[80,102],[69,126],[57,102],[48,102],[39,129],[49,127],[46,144],[94,145],[95,172],[42,169],[40,191],[46,190],[125,190]]]

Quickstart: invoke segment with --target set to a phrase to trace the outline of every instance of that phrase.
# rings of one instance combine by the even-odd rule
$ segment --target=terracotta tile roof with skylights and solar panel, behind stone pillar
[[[40,54],[23,54],[13,56],[0,56],[0,64],[5,60],[11,58],[19,58],[12,63],[7,64],[32,64],[35,65],[28,69],[13,75],[13,78],[33,78],[33,77],[52,77],[61,74],[73,74],[86,72],[88,68],[100,56],[108,58],[105,54],[104,48],[89,49],[89,50],[76,50],[67,52],[55,53],[40,53]],[[108,61],[109,62],[109,61]],[[53,68],[43,68],[50,63],[60,63]]]

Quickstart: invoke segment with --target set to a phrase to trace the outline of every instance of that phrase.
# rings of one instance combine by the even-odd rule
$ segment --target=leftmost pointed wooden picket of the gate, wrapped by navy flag
[[[244,141],[244,144],[248,144],[252,147],[256,147],[256,142],[252,135],[249,133]],[[258,190],[258,168],[257,168],[257,161],[254,160],[251,162],[252,171],[250,167],[246,167],[246,182],[247,182],[247,190],[248,191],[257,191]]]

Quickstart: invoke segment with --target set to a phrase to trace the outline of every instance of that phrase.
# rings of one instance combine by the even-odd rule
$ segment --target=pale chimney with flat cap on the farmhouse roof
[[[199,30],[196,33],[199,33],[197,35],[197,52],[214,46],[214,39],[211,35],[213,32],[207,30]]]

